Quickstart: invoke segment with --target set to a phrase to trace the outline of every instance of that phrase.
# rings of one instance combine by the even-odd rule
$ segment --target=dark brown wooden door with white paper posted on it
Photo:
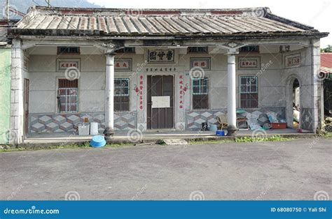
[[[147,128],[174,128],[174,85],[172,75],[148,76]],[[169,96],[169,107],[153,106],[152,97]]]

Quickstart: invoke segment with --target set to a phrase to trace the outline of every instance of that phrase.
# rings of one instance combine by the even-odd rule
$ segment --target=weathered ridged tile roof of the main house
[[[269,8],[221,10],[47,8],[34,6],[13,30],[30,35],[188,36],[319,33]]]

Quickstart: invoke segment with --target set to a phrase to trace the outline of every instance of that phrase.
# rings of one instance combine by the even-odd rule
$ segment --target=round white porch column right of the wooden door
[[[228,51],[227,63],[227,135],[235,136],[236,127],[236,75],[235,75],[235,50]]]

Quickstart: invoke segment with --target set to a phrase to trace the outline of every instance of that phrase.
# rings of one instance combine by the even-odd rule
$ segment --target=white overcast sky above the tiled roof
[[[332,33],[332,0],[88,0],[106,8],[251,8],[269,7],[272,13]],[[331,34],[321,47],[332,45]]]

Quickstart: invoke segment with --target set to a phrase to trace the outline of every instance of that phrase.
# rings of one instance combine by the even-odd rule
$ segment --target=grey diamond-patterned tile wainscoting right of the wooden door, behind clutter
[[[240,110],[240,109],[237,109]],[[241,109],[243,110],[243,109]],[[284,107],[267,107],[255,110],[245,110],[246,112],[242,116],[247,116],[247,113],[263,114],[266,112],[275,112],[277,114],[277,119],[285,119],[286,111]],[[207,110],[207,111],[196,111],[196,110],[186,110],[186,129],[188,130],[200,130],[202,128],[202,123],[214,123],[217,124],[216,117],[220,114],[227,114],[226,109],[219,110]]]

